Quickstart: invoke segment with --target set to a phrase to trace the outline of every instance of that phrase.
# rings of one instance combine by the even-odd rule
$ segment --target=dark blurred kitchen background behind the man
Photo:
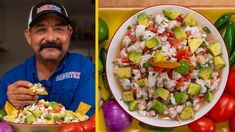
[[[69,50],[95,61],[95,0],[56,0],[73,21]],[[36,0],[0,0],[0,78],[33,55],[24,37],[28,16]]]

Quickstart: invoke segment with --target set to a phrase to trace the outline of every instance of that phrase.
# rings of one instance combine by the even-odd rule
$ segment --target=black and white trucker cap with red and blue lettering
[[[61,17],[65,22],[71,24],[71,20],[68,16],[68,13],[63,5],[56,3],[52,0],[44,0],[37,4],[35,4],[30,11],[29,20],[28,20],[28,28],[32,26],[32,24],[41,16],[47,14],[57,14]]]

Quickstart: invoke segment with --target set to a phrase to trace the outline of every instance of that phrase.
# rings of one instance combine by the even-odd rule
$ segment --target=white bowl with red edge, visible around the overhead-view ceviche
[[[192,12],[197,19],[202,25],[207,26],[214,38],[216,38],[218,41],[221,42],[222,44],[222,57],[224,58],[226,62],[226,67],[223,68],[222,70],[222,77],[221,77],[221,82],[219,89],[214,95],[214,99],[207,105],[203,106],[202,108],[199,109],[199,111],[196,112],[195,118],[194,119],[189,119],[189,120],[183,120],[183,121],[176,121],[176,120],[164,120],[164,119],[155,119],[155,118],[149,118],[149,117],[144,117],[140,116],[136,111],[135,112],[130,112],[128,110],[128,106],[125,102],[122,101],[122,92],[120,88],[120,84],[118,80],[115,78],[115,75],[113,74],[114,71],[114,64],[112,63],[119,55],[120,53],[120,42],[124,37],[124,34],[126,33],[126,29],[129,25],[132,25],[137,22],[137,16],[140,13],[147,13],[147,14],[155,14],[162,12],[163,9],[165,8],[171,8],[177,11],[182,12],[183,14],[187,14],[189,12]],[[115,35],[113,36],[111,43],[109,45],[108,53],[107,53],[107,59],[106,59],[106,72],[107,72],[107,79],[108,83],[111,89],[111,92],[114,95],[114,98],[117,100],[117,102],[120,104],[120,106],[132,117],[136,118],[137,120],[146,123],[151,126],[156,126],[156,127],[177,127],[177,126],[182,126],[189,124],[198,118],[202,117],[205,115],[209,110],[216,104],[220,96],[222,95],[227,78],[228,78],[228,72],[229,72],[229,59],[228,59],[228,53],[226,46],[224,44],[223,38],[221,37],[220,33],[218,30],[213,26],[213,24],[204,16],[199,14],[198,12],[191,10],[186,7],[182,6],[177,6],[177,5],[159,5],[159,6],[153,6],[146,8],[144,10],[141,10],[137,12],[136,14],[132,15],[130,18],[128,18],[116,31]]]

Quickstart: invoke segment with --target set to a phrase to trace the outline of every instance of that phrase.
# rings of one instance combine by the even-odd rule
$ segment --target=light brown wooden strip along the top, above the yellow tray
[[[235,8],[235,0],[99,0],[99,8],[145,8],[158,4],[178,4],[191,8]]]

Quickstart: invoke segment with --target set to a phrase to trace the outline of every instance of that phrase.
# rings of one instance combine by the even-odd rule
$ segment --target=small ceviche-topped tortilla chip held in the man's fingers
[[[30,94],[36,95],[48,95],[46,89],[42,86],[41,83],[36,83],[32,87],[29,88]]]

